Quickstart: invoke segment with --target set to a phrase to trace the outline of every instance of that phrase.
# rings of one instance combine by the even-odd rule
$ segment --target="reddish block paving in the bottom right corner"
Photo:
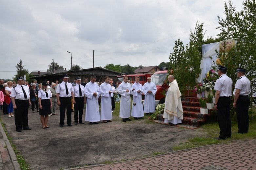
[[[256,170],[256,139],[236,140],[171,152],[133,161],[117,162],[78,170]]]

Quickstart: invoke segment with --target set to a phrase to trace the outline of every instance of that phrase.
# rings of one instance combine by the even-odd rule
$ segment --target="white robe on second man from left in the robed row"
[[[115,87],[114,87],[115,88]],[[111,120],[111,94],[109,91],[113,91],[111,85],[108,83],[102,83],[100,85],[100,95],[101,95],[101,109],[100,109],[100,119],[101,120]]]

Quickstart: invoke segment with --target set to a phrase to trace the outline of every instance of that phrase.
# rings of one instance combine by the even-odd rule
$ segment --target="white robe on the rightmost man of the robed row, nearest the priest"
[[[152,93],[148,93],[148,91],[152,91]],[[144,113],[155,113],[155,94],[157,88],[156,85],[152,82],[145,83],[143,85],[143,93],[145,94],[144,100]]]

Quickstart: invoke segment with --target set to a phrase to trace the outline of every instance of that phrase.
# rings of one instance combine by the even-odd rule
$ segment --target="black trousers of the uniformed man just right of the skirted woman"
[[[65,120],[65,112],[67,108],[67,124],[71,125],[71,97],[60,97],[60,126],[63,126]]]

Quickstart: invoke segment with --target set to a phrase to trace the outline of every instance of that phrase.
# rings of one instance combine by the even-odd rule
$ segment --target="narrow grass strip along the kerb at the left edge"
[[[2,124],[2,127],[3,127],[3,130],[5,131],[5,134],[10,142],[10,145],[16,155],[16,158],[17,158],[17,162],[19,163],[20,165],[20,169],[21,170],[31,170],[30,169],[30,165],[28,163],[26,163],[24,157],[22,155],[20,155],[20,151],[17,149],[17,147],[13,144],[12,142],[12,138],[9,136],[7,130],[6,130],[6,127],[5,127],[5,123],[2,122],[2,118],[0,117],[0,122]]]

